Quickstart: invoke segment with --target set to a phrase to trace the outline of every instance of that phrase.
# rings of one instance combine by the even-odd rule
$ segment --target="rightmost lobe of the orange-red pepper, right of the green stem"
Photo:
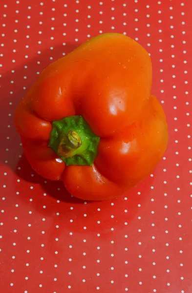
[[[117,136],[100,140],[95,165],[110,180],[132,187],[157,165],[167,144],[165,115],[151,96],[140,120]]]

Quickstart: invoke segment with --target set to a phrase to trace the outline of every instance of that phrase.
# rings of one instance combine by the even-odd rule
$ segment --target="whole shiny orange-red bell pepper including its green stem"
[[[92,38],[50,64],[15,113],[32,168],[63,180],[85,200],[119,197],[137,185],[168,144],[151,83],[147,51],[116,33]]]

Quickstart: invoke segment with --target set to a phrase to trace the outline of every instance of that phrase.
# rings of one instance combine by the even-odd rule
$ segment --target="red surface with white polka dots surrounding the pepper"
[[[192,292],[191,18],[191,0],[0,1],[1,292]],[[83,202],[31,169],[13,117],[45,66],[106,32],[148,50],[170,141],[136,188]]]

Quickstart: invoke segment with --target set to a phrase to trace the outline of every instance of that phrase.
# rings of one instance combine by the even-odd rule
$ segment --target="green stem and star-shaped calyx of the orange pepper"
[[[99,140],[82,116],[69,116],[53,121],[49,147],[67,166],[92,166]]]

